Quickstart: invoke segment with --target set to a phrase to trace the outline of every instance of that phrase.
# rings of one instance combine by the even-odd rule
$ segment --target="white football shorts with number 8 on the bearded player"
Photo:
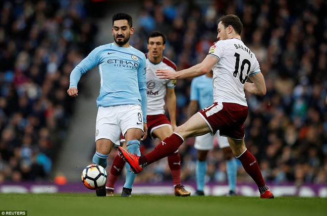
[[[99,107],[96,121],[95,141],[109,139],[120,146],[120,135],[130,128],[143,128],[143,113],[139,105]]]

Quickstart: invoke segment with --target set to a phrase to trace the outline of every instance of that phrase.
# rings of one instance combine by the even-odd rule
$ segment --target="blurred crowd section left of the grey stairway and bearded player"
[[[95,46],[97,26],[85,6],[0,2],[0,182],[52,171],[74,109],[70,72]]]

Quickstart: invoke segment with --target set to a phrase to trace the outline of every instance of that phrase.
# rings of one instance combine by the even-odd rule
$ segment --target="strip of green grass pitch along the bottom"
[[[327,216],[327,199],[0,194],[0,211],[27,211],[28,216]]]

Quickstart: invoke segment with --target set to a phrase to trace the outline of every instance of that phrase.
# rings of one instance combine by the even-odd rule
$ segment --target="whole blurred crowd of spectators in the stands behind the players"
[[[22,2],[0,5],[0,182],[49,175],[74,108],[66,94],[69,74],[94,48],[98,32],[82,0]],[[256,54],[267,85],[266,96],[247,95],[247,148],[268,182],[327,183],[325,0],[133,3],[142,5],[133,17],[137,28],[131,45],[146,53],[148,34],[162,31],[167,35],[164,55],[179,70],[204,59],[217,40],[221,15],[238,15],[242,40]],[[177,125],[187,120],[190,83],[191,79],[177,81]],[[143,153],[158,142],[147,139]],[[179,148],[182,181],[195,179],[193,144],[194,138],[189,138]],[[109,160],[114,156],[111,153]],[[207,181],[226,182],[217,141],[208,162]],[[252,182],[249,178],[240,165],[238,181]],[[169,179],[163,159],[138,174],[135,182]]]

